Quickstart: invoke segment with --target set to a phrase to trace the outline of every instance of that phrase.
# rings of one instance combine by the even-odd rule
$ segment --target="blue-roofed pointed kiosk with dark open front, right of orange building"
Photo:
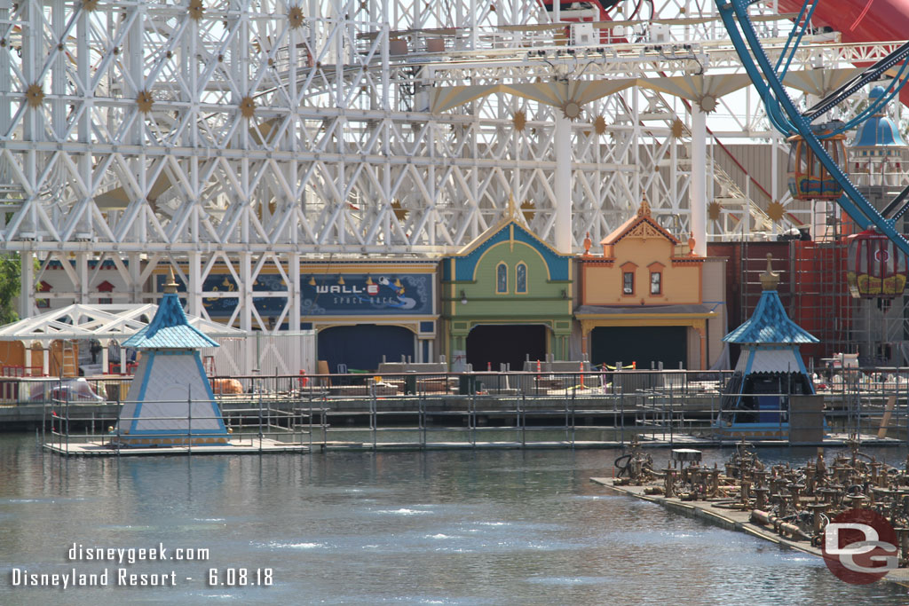
[[[785,312],[770,254],[761,283],[764,292],[751,318],[723,339],[741,345],[742,353],[724,389],[716,423],[721,437],[786,439],[790,396],[814,394],[799,345],[818,340]]]

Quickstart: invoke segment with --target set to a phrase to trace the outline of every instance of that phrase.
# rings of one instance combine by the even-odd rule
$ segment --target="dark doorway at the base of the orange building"
[[[687,367],[687,326],[598,326],[591,333],[590,361],[638,369],[662,362],[664,368]]]

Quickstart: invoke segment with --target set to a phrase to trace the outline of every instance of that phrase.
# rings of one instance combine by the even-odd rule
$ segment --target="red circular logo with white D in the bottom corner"
[[[869,509],[851,509],[824,528],[822,552],[837,579],[867,585],[897,568],[896,544],[896,531],[884,516]]]

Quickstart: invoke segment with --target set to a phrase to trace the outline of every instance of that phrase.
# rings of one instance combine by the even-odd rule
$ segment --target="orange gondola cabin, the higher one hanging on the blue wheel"
[[[821,139],[824,150],[838,166],[843,167],[843,170],[846,170],[845,138],[844,134],[833,134]],[[814,150],[804,141],[801,134],[789,137],[787,141],[789,193],[796,200],[835,200],[843,195],[843,186],[824,168],[820,158],[814,154]]]

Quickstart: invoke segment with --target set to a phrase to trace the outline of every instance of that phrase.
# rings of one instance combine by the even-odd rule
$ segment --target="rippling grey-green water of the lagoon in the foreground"
[[[658,463],[668,456],[654,451]],[[61,459],[0,436],[3,604],[901,604],[823,561],[589,482],[614,451]],[[905,452],[879,458],[898,462]],[[705,452],[722,462],[728,452]],[[810,453],[764,451],[766,462]],[[68,561],[73,543],[207,561]],[[32,572],[174,572],[175,587],[13,587]],[[216,569],[215,586],[208,585]],[[241,581],[271,586],[229,586]],[[258,576],[256,576],[258,571]],[[235,575],[235,576],[231,576]],[[191,580],[187,581],[187,578]]]

